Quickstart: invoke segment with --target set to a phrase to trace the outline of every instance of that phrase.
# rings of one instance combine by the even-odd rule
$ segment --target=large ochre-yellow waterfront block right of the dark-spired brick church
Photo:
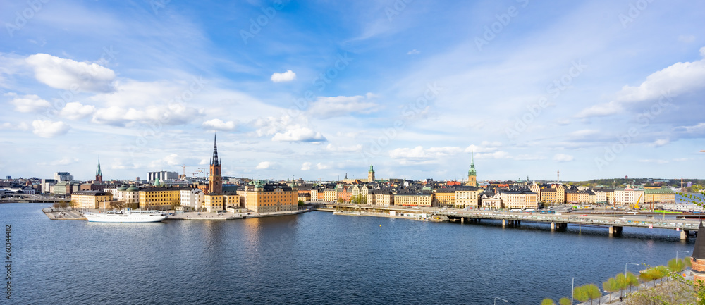
[[[241,197],[245,198],[245,208],[255,213],[297,211],[298,191],[295,185],[264,184],[247,185]]]

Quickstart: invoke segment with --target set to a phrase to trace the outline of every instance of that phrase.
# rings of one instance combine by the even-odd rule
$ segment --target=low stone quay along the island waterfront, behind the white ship
[[[99,213],[99,210],[92,209],[89,210],[92,213]],[[275,217],[275,216],[288,216],[296,215],[300,213],[306,213],[312,211],[312,209],[303,209],[298,211],[282,211],[282,212],[268,212],[268,213],[215,213],[215,212],[185,212],[185,213],[173,213],[173,211],[165,211],[165,213],[172,213],[165,220],[233,220],[233,219],[245,219],[245,218],[262,218],[262,217]],[[42,212],[49,217],[51,220],[87,220],[83,213],[78,210],[67,208],[43,208]]]

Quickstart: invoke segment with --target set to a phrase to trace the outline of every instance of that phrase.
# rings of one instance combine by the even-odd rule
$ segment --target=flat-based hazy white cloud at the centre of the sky
[[[348,116],[353,113],[372,113],[377,111],[379,105],[372,102],[374,94],[367,93],[354,97],[318,97],[308,108],[310,116],[317,118],[333,118]]]

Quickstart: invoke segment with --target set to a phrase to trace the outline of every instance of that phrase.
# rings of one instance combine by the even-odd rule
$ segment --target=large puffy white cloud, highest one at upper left
[[[115,73],[97,63],[73,61],[49,54],[34,54],[27,57],[27,63],[35,70],[39,82],[56,89],[87,92],[110,92]]]

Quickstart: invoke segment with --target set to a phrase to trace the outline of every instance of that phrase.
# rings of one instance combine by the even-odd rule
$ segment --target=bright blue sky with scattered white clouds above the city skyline
[[[2,178],[704,178],[701,1],[0,7]]]

